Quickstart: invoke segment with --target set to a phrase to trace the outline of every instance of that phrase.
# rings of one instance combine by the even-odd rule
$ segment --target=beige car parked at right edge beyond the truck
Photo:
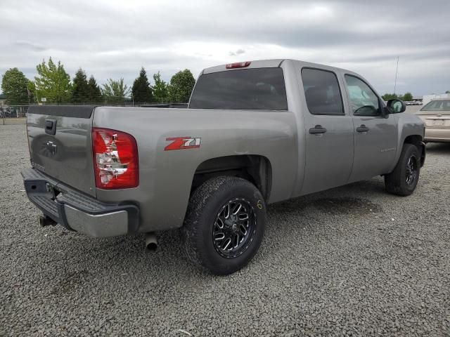
[[[450,99],[436,98],[417,113],[425,123],[425,142],[450,142]]]

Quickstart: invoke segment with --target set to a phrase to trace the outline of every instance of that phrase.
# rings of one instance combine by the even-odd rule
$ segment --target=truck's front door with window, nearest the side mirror
[[[389,173],[397,152],[397,117],[381,114],[380,98],[363,79],[345,74],[353,114],[354,160],[349,182]]]

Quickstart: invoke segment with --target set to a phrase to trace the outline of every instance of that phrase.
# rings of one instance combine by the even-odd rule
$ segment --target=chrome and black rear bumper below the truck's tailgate
[[[139,227],[139,208],[134,204],[104,204],[37,169],[21,173],[28,199],[68,230],[91,237],[115,237]]]

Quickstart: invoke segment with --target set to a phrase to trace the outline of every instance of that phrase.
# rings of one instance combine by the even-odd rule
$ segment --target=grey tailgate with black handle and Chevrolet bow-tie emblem
[[[91,127],[94,106],[33,105],[27,134],[34,169],[95,197]]]

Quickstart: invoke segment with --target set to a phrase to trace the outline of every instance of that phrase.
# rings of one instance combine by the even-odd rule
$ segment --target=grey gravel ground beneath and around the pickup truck
[[[0,144],[0,336],[450,336],[450,145],[428,145],[411,197],[374,178],[269,206],[252,263],[214,277],[176,231],[149,253],[39,227],[25,127]]]

